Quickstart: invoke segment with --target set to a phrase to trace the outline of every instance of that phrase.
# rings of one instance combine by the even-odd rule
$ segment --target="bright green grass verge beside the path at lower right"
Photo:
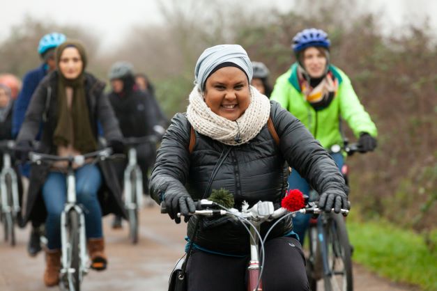
[[[381,220],[362,222],[352,216],[346,225],[355,262],[392,281],[437,290],[437,252],[424,237]],[[437,230],[431,240],[437,242]]]

